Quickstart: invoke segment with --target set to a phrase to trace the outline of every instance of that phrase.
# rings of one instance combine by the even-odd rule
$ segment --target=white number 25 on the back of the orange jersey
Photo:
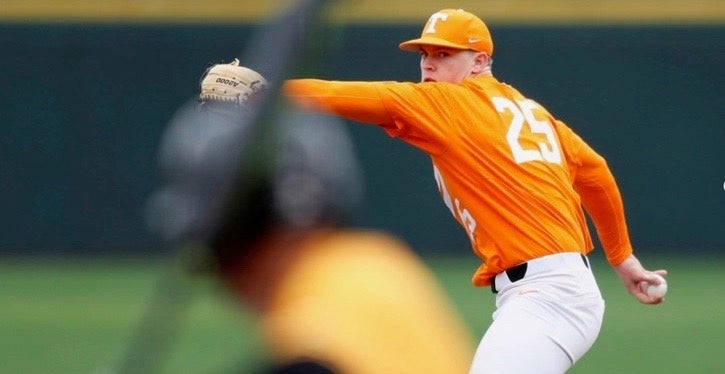
[[[554,129],[549,122],[541,121],[534,116],[534,110],[539,108],[536,102],[529,99],[513,102],[504,97],[494,97],[493,105],[499,113],[511,113],[511,123],[509,123],[506,133],[506,140],[517,164],[531,161],[561,164],[561,151],[556,135],[554,135]],[[544,135],[546,141],[539,142],[538,148],[524,148],[521,145],[521,131],[524,129],[524,125],[528,125],[532,134]]]

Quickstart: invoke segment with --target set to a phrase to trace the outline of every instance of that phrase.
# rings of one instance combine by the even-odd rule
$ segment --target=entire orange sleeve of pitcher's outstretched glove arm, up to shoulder
[[[429,154],[448,139],[450,98],[440,87],[408,82],[342,82],[290,79],[283,93],[304,109],[375,124]]]

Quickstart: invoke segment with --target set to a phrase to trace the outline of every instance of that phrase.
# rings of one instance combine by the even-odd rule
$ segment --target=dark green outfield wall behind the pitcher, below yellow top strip
[[[209,62],[253,26],[0,24],[0,249],[150,251],[141,219],[159,136]],[[643,251],[725,249],[725,25],[491,24],[494,73],[566,121],[619,179]],[[418,26],[330,32],[325,78],[417,80]],[[366,178],[356,223],[467,254],[427,158],[349,123]],[[485,222],[482,223],[485,225]]]

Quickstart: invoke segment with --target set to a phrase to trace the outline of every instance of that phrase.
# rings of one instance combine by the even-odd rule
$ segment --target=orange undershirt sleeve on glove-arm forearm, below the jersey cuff
[[[285,81],[282,92],[304,109],[388,127],[393,120],[378,91],[379,85],[376,82],[290,79]]]

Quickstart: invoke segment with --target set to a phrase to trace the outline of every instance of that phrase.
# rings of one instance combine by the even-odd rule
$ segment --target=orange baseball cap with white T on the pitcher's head
[[[420,38],[400,43],[400,49],[418,52],[422,45],[471,49],[493,55],[493,39],[488,27],[480,18],[463,9],[443,9],[433,13],[423,26]]]

